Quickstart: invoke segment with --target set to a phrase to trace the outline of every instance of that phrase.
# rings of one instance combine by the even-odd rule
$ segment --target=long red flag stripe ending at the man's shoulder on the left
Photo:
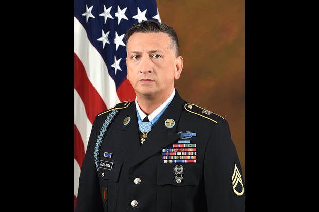
[[[107,110],[106,104],[87,77],[83,63],[74,53],[74,88],[79,93],[88,119],[93,124],[96,115]]]

